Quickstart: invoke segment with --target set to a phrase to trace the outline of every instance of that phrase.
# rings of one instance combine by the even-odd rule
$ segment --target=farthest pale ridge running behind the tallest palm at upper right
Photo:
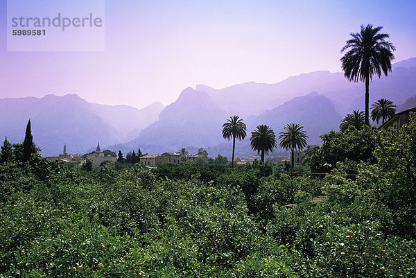
[[[370,103],[388,98],[403,103],[416,92],[416,58],[397,62],[388,76],[374,77],[370,83]],[[364,83],[349,82],[344,73],[315,71],[292,76],[275,84],[247,82],[223,89],[197,85],[198,91],[207,92],[211,99],[228,114],[259,115],[266,110],[290,101],[308,92],[318,92],[329,98],[342,116],[364,108]]]

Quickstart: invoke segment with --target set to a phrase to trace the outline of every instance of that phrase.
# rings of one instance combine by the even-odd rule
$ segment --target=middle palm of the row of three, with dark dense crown
[[[264,153],[268,154],[277,147],[275,132],[267,125],[257,125],[257,130],[252,132],[250,146],[258,154],[261,153],[261,162],[264,162]]]

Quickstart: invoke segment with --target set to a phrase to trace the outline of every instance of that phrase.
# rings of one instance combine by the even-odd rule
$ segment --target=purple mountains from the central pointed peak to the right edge
[[[415,95],[416,59],[398,64],[401,66],[393,65],[389,76],[373,78],[370,104],[388,98],[399,105]],[[171,151],[199,146],[229,156],[231,149],[225,150],[228,142],[221,137],[221,130],[234,114],[248,126],[248,137],[239,142],[237,155],[239,151],[250,153],[250,132],[259,124],[269,125],[278,134],[287,123],[300,123],[309,136],[308,144],[320,144],[320,134],[338,130],[340,120],[352,110],[363,110],[363,97],[363,82],[349,82],[343,73],[329,71],[302,73],[276,84],[246,82],[223,89],[197,85],[195,90],[185,89],[168,105],[159,121],[118,147],[132,150],[146,146],[142,150],[157,153],[157,146]]]

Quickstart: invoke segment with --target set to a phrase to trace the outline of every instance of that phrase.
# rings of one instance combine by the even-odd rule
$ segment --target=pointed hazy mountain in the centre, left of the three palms
[[[223,138],[221,130],[225,119],[227,113],[220,110],[207,93],[187,88],[177,101],[159,114],[159,121],[141,130],[133,141],[118,147],[122,151],[140,147],[150,153],[156,150],[150,145],[163,146],[171,151],[184,146],[212,146]],[[147,148],[142,148],[145,145]]]

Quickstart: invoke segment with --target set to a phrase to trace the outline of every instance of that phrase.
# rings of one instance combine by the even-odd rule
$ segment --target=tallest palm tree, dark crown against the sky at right
[[[365,82],[365,124],[369,125],[368,87],[372,76],[381,77],[383,72],[387,76],[392,71],[392,60],[395,59],[392,51],[395,46],[385,41],[388,34],[379,33],[383,27],[373,28],[372,24],[366,27],[361,25],[360,33],[351,33],[351,40],[347,40],[341,53],[349,49],[341,58],[344,75],[349,81]]]

